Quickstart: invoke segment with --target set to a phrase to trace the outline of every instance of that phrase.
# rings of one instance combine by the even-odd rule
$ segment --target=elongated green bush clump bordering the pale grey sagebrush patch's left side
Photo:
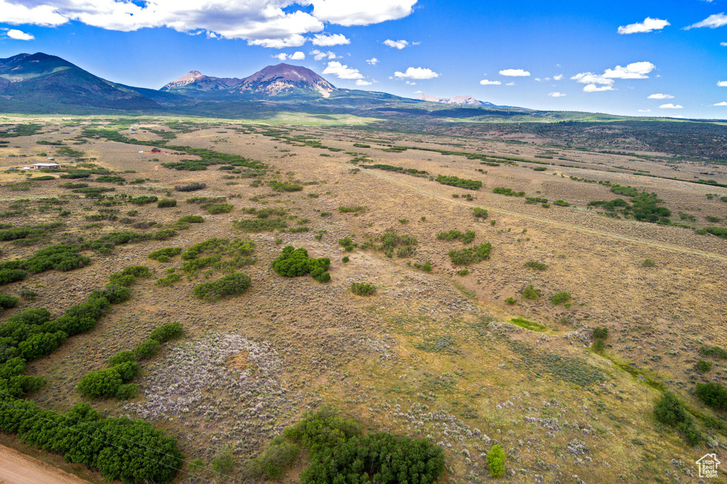
[[[150,358],[158,352],[161,343],[183,334],[181,324],[163,324],[154,329],[149,339],[137,345],[133,351],[119,351],[112,356],[108,360],[108,368],[85,374],[77,390],[89,398],[132,398],[138,391],[137,386],[130,383],[141,371],[138,360]]]

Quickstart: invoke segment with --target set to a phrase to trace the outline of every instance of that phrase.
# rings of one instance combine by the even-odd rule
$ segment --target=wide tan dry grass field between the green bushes
[[[725,360],[701,353],[704,345],[727,348],[727,239],[699,230],[727,228],[727,202],[720,200],[727,189],[668,179],[727,184],[727,165],[705,166],[664,153],[637,152],[650,156],[635,158],[555,148],[541,137],[497,132],[468,137],[322,121],[175,121],[1,121],[42,128],[6,138],[9,143],[0,148],[0,223],[65,224],[37,240],[0,242],[0,261],[112,232],[175,230],[165,240],[85,250],[91,263],[83,268],[45,271],[1,287],[9,295],[25,295],[3,319],[27,308],[47,308],[57,316],[127,266],[148,266],[153,273],[132,286],[132,298],[114,305],[95,329],[28,365],[28,374],[47,380],[28,395],[39,405],[67,411],[90,401],[104,414],[152,422],[178,439],[185,460],[206,464],[203,470],[185,467],[190,474],[180,473],[179,483],[223,482],[209,464],[225,448],[238,462],[233,477],[241,480],[245,459],[260,454],[305,411],[324,404],[358,419],[365,430],[442,446],[447,469],[440,482],[491,480],[485,456],[494,443],[506,454],[499,480],[510,483],[696,483],[696,460],[727,449],[727,434],[704,424],[707,417],[723,422],[725,414],[694,395],[696,382],[727,379]],[[89,128],[241,155],[265,163],[267,171],[220,169],[224,164],[201,171],[165,168],[162,163],[198,157],[177,155],[178,149],[161,143],[157,154],[149,152],[151,145],[81,136]],[[62,147],[82,153],[68,156]],[[485,155],[486,162],[442,151]],[[125,181],[94,181],[97,173],[33,181],[60,173],[9,170],[47,157],[63,170],[103,168]],[[374,164],[427,173],[364,168]],[[440,184],[439,175],[482,186]],[[62,186],[69,182],[113,191],[85,197]],[[192,182],[206,187],[174,190]],[[279,184],[298,189],[275,191]],[[611,192],[616,184],[655,192],[672,222],[691,229],[605,216],[603,208],[588,205],[626,198]],[[498,187],[525,196],[494,193]],[[134,205],[121,194],[173,198],[177,205]],[[232,209],[208,213],[187,201],[192,197],[225,197],[218,202]],[[526,197],[547,202],[527,203]],[[286,228],[239,229],[239,220],[276,219],[256,218],[246,210],[251,208],[284,213]],[[486,209],[486,218],[476,218],[474,208]],[[204,223],[180,225],[182,216],[202,216]],[[377,250],[390,230],[414,237],[416,245],[401,253]],[[475,238],[469,244],[438,239],[450,230],[473,231]],[[154,250],[187,250],[212,237],[254,242],[257,261],[233,269],[252,278],[244,295],[198,299],[194,287],[224,276],[224,266],[185,271],[179,255],[164,262],[148,258]],[[346,237],[356,244],[350,251],[339,243]],[[450,251],[486,242],[489,260],[453,265]],[[305,247],[312,258],[330,258],[330,282],[276,274],[271,262],[287,245]],[[547,267],[529,268],[529,262]],[[179,274],[179,280],[157,284],[169,274]],[[377,291],[354,295],[353,282],[369,282]],[[539,298],[523,297],[530,285]],[[561,292],[569,295],[565,303],[552,303]],[[139,395],[89,400],[78,393],[84,374],[105,368],[114,353],[132,350],[172,321],[182,324],[185,335],[142,362],[134,380]],[[608,329],[600,352],[590,348],[596,327]],[[710,371],[696,369],[702,359],[712,362]],[[694,412],[705,438],[696,447],[654,418],[664,390]],[[0,443],[23,447],[9,436]],[[295,482],[302,465],[283,481]],[[83,475],[103,480],[94,476]],[[727,475],[709,482],[727,482]]]

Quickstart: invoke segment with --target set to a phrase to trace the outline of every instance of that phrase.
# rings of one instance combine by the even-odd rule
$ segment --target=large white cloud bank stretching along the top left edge
[[[320,33],[326,22],[348,26],[395,20],[410,15],[416,3],[417,0],[205,0],[203,4],[189,0],[0,0],[0,23],[54,26],[78,21],[124,32],[164,26],[187,33],[204,30],[214,38],[242,38],[252,45],[283,49],[301,46],[308,40],[305,34]],[[321,46],[348,44],[341,34],[319,34],[313,41]]]

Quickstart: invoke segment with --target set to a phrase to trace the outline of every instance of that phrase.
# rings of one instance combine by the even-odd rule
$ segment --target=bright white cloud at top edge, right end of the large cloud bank
[[[346,27],[408,17],[416,3],[417,0],[310,0],[316,18]]]

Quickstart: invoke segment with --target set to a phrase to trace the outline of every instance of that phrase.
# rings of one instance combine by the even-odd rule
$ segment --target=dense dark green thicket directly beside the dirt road
[[[68,461],[86,464],[108,480],[167,484],[182,467],[184,456],[177,441],[148,422],[104,419],[87,403],[59,414],[30,401],[0,398],[0,403],[6,403],[0,405],[0,430]]]

